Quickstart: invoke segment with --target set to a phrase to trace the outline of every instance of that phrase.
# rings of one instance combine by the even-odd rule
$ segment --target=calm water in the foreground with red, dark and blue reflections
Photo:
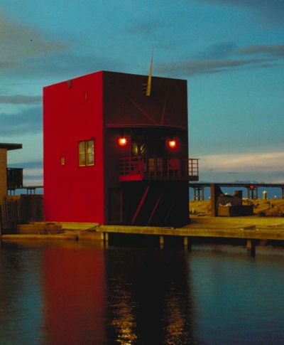
[[[283,344],[284,249],[1,243],[0,344]]]

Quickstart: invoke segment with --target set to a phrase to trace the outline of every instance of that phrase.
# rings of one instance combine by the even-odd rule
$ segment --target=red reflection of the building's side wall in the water
[[[43,265],[48,344],[104,343],[103,250],[48,248]]]

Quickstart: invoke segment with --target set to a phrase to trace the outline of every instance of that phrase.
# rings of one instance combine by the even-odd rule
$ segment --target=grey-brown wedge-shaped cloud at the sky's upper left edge
[[[66,42],[47,41],[43,33],[12,21],[0,11],[0,68],[21,65],[24,60],[45,56],[67,48]]]

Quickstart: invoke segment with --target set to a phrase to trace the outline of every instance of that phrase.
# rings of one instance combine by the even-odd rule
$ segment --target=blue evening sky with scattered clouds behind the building
[[[200,180],[284,183],[283,0],[0,0],[0,142],[43,183],[43,86],[97,70],[187,80]]]

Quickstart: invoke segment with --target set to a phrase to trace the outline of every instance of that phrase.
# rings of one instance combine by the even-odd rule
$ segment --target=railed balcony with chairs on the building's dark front
[[[143,158],[119,159],[119,181],[198,181],[198,159]]]

